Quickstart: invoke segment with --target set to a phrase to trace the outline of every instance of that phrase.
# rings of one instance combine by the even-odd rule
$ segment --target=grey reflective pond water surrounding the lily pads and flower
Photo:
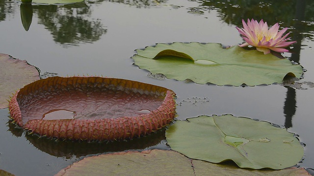
[[[172,89],[177,94],[178,119],[230,113],[285,126],[306,144],[305,158],[298,165],[311,170],[313,17],[314,2],[310,0],[85,0],[32,6],[0,0],[0,53],[27,60],[46,75],[103,75]],[[156,76],[134,66],[130,58],[134,49],[156,43],[242,43],[235,26],[242,26],[241,19],[247,18],[263,19],[271,25],[280,22],[281,27],[289,28],[297,43],[293,54],[284,56],[307,70],[303,79],[293,86],[199,85],[154,79]],[[8,122],[8,109],[0,110],[0,169],[16,176],[51,176],[86,155],[169,149],[164,131],[131,142],[55,142],[28,136]]]

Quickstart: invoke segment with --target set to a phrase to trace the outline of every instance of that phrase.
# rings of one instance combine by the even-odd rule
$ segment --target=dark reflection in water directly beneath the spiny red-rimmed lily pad
[[[18,128],[8,121],[10,132],[16,137],[21,137],[24,130]],[[80,157],[89,154],[102,154],[106,152],[120,152],[125,150],[144,150],[151,146],[158,145],[162,140],[166,139],[165,129],[153,132],[150,135],[131,140],[121,141],[103,141],[103,142],[87,142],[87,141],[72,141],[72,140],[55,140],[46,137],[39,137],[35,134],[25,134],[26,139],[38,150],[57,157]]]

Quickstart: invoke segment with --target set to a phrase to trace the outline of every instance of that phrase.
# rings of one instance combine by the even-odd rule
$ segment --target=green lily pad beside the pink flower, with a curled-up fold
[[[137,49],[135,65],[169,79],[192,80],[219,86],[256,86],[282,83],[288,74],[300,78],[303,69],[288,59],[239,46],[224,49],[221,44],[173,43]]]

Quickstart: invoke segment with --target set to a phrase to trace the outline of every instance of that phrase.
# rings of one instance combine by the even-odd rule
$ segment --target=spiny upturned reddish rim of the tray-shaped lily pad
[[[141,92],[140,94],[155,93],[159,96],[162,95],[164,99],[156,110],[137,116],[100,119],[30,119],[23,123],[23,116],[18,102],[21,97],[23,98],[30,93],[36,94],[40,88],[45,90],[53,88],[62,91],[62,88],[68,86],[72,86],[72,88],[97,86],[114,90]],[[155,132],[170,124],[176,115],[175,95],[174,91],[167,88],[125,79],[96,76],[56,76],[35,81],[17,91],[9,102],[9,113],[18,126],[30,133],[47,136],[48,138],[88,141],[129,139]]]

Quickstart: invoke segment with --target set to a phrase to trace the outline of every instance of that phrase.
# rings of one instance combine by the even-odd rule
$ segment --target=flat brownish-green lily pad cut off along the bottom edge
[[[129,151],[85,157],[55,176],[310,176],[304,168],[248,170],[191,160],[175,151]]]

